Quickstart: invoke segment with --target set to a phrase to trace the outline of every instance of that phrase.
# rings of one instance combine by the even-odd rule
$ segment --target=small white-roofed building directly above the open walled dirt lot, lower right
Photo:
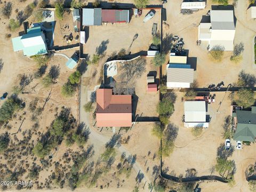
[[[202,126],[208,127],[206,122],[206,102],[205,101],[185,101],[185,127]]]

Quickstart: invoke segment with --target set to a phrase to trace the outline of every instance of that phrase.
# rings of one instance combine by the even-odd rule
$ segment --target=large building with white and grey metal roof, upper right
[[[198,40],[209,42],[210,50],[222,46],[225,51],[233,51],[235,23],[233,10],[211,10],[210,23],[200,23]]]

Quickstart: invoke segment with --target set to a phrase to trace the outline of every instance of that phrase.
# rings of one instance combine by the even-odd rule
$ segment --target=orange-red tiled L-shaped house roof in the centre
[[[112,95],[111,89],[98,89],[96,97],[98,127],[132,125],[132,95]]]

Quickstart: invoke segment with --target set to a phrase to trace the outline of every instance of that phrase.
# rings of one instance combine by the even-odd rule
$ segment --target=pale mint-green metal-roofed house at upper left
[[[12,38],[12,45],[14,51],[22,50],[28,57],[47,53],[45,35],[41,27],[27,29],[27,34]]]

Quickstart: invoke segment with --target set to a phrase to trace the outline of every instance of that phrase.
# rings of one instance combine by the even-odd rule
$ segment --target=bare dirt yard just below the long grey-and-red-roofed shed
[[[146,23],[143,18],[149,10],[143,10],[141,17],[132,17],[130,23],[108,23],[102,26],[90,26],[89,38],[84,44],[84,54],[93,55],[97,52],[97,47],[101,47],[98,53],[110,55],[121,49],[126,51],[130,47],[131,53],[147,51],[151,44],[151,30],[153,23],[157,23],[157,30],[161,25],[161,11],[156,10],[155,16]],[[138,34],[137,39],[133,42],[133,37]]]

